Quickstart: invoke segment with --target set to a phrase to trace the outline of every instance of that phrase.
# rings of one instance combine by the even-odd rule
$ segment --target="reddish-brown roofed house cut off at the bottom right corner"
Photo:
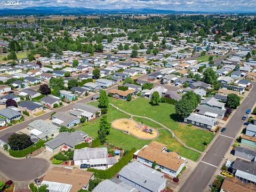
[[[253,183],[244,183],[237,177],[226,177],[223,181],[220,192],[253,192],[256,186]]]

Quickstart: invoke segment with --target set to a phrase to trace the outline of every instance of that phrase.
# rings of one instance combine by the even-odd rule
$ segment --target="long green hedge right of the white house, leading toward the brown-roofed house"
[[[131,161],[133,158],[133,154],[135,153],[136,149],[132,148],[130,151],[124,155],[119,162],[117,162],[115,165],[111,166],[107,170],[97,170],[89,168],[87,171],[94,172],[95,177],[101,178],[101,179],[110,179],[111,177],[114,177],[114,175],[119,172],[127,163]]]

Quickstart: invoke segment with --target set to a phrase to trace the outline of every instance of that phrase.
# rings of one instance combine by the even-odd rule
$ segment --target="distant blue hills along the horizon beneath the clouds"
[[[150,8],[143,9],[119,9],[119,10],[108,10],[108,9],[90,9],[84,7],[68,7],[68,6],[37,6],[37,7],[26,7],[23,9],[0,9],[0,15],[29,15],[29,14],[37,14],[37,15],[45,15],[45,14],[150,14],[150,13],[209,13],[202,11],[174,11],[174,10],[157,10]],[[214,11],[212,13],[253,13],[248,11]],[[255,13],[255,11],[254,11]]]

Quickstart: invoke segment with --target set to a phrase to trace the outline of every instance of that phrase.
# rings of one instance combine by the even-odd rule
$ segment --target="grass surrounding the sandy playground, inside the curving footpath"
[[[95,103],[95,102],[91,102],[89,104],[94,106],[98,105],[98,103]],[[109,106],[108,108],[107,117],[108,117],[108,122],[112,122],[118,118],[130,118],[129,115],[122,113],[121,111],[115,109],[112,106]],[[134,120],[138,122],[143,122],[147,126],[151,126],[156,129],[162,128],[160,125],[148,119],[134,117]],[[100,122],[100,118],[97,118],[94,121],[79,127],[78,130],[82,130],[85,133],[89,134],[91,137],[97,138],[99,122]],[[172,134],[168,130],[161,129],[158,132],[159,132],[159,137],[153,140],[165,143],[168,149],[177,151],[177,153],[179,153],[181,156],[189,158],[193,161],[196,161],[201,155],[194,150],[190,150],[182,146],[181,143],[179,143],[175,138],[172,138]],[[122,147],[125,150],[130,150],[133,147],[135,147],[136,149],[139,149],[144,145],[147,145],[152,140],[139,139],[139,138],[133,137],[133,135],[126,134],[123,131],[119,131],[113,128],[110,131],[110,135],[108,135],[107,141],[115,146]]]

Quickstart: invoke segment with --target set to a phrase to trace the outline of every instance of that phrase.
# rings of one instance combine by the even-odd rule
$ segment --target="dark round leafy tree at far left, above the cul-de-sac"
[[[32,144],[33,143],[31,142],[29,135],[25,133],[13,133],[8,138],[8,145],[12,150],[22,150],[31,146]]]

